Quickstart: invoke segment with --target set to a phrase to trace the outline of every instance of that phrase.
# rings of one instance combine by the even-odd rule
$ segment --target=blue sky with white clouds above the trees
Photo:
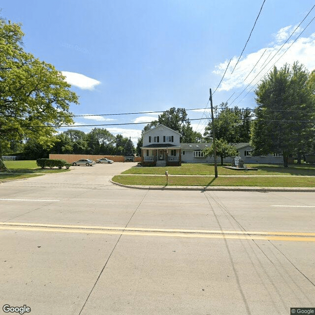
[[[231,104],[250,84],[231,106],[253,108],[255,84],[315,16],[314,8],[269,62],[315,3],[266,0],[231,74],[262,3],[263,0],[10,0],[1,3],[0,15],[22,23],[26,51],[63,71],[71,89],[80,96],[80,105],[71,106],[76,115],[205,107],[209,88],[215,91],[230,59],[225,77],[213,95],[214,105],[233,95],[228,101]],[[315,69],[315,21],[276,65],[296,60],[310,71]],[[202,114],[203,111],[188,111],[190,119],[201,118]],[[141,123],[157,116],[86,116],[75,118],[75,122]],[[191,123],[203,132],[207,122]],[[144,126],[103,127],[136,142]],[[76,128],[88,132],[93,126]]]

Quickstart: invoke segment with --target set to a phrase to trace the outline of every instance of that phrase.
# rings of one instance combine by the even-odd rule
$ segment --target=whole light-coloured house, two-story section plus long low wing
[[[142,164],[145,166],[180,166],[181,163],[213,163],[214,157],[204,157],[203,150],[211,143],[180,143],[180,133],[164,125],[158,125],[142,134]],[[281,154],[252,156],[249,143],[233,143],[244,163],[282,164]],[[231,163],[234,157],[223,158]]]

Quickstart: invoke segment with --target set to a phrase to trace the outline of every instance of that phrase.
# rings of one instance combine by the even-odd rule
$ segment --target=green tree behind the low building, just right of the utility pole
[[[240,109],[237,106],[229,108],[226,102],[222,102],[215,106],[214,116],[216,139],[224,139],[228,143],[250,141],[253,116],[250,108]],[[212,141],[212,129],[210,121],[203,134],[207,142]]]

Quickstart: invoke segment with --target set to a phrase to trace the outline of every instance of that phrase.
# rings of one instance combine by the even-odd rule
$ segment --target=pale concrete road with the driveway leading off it
[[[0,185],[0,314],[3,305],[32,315],[315,307],[314,193],[111,184],[135,164]]]

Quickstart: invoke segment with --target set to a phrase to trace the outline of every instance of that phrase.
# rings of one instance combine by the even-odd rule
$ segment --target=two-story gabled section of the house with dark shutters
[[[181,165],[180,133],[158,125],[142,134],[142,165]]]

